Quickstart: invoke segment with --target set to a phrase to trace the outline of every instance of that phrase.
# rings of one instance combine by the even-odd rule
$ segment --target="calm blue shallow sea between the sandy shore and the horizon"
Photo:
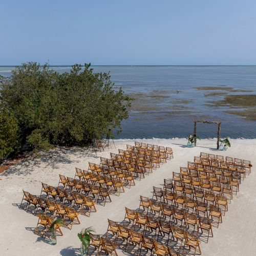
[[[70,71],[70,67],[52,68],[60,73]],[[222,138],[256,138],[255,120],[227,113],[234,110],[231,105],[211,105],[227,95],[256,94],[256,66],[93,68],[95,72],[110,72],[116,87],[122,87],[125,93],[136,98],[130,118],[122,122],[123,132],[116,135],[117,139],[188,137],[193,133],[193,120],[221,121]],[[0,75],[10,76],[12,69],[0,67]],[[198,90],[196,87],[220,89]],[[217,125],[198,124],[197,134],[200,138],[217,137]]]

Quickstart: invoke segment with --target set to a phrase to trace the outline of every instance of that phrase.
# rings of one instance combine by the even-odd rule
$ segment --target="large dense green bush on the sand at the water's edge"
[[[59,74],[47,64],[28,62],[10,79],[0,77],[0,86],[0,106],[14,114],[23,144],[35,150],[113,137],[129,117],[132,100],[114,89],[109,73],[93,73],[90,64]]]

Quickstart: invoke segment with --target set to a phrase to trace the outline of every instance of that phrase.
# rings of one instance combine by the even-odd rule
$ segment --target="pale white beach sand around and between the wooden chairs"
[[[120,197],[112,196],[112,202],[97,207],[91,217],[79,216],[80,225],[73,225],[72,230],[62,227],[63,237],[57,237],[57,245],[53,246],[38,238],[30,228],[34,228],[37,217],[16,204],[22,200],[22,189],[38,195],[41,181],[49,185],[58,184],[58,174],[74,177],[75,167],[87,169],[88,161],[99,163],[99,156],[109,157],[109,152],[89,153],[82,148],[70,151],[55,151],[41,159],[25,160],[10,168],[0,176],[0,255],[74,255],[80,248],[77,233],[83,228],[93,226],[98,234],[105,233],[107,219],[122,221],[124,207],[136,209],[139,196],[152,197],[152,187],[163,184],[164,178],[172,177],[172,172],[179,172],[180,166],[193,161],[200,152],[219,154],[251,160],[252,173],[242,182],[240,192],[228,205],[228,212],[223,217],[219,228],[214,228],[214,238],[208,244],[201,243],[203,255],[255,255],[256,248],[256,139],[231,140],[231,148],[226,152],[216,151],[216,140],[201,140],[195,148],[186,148],[185,139],[142,140],[147,143],[173,147],[174,159],[167,161],[153,174],[136,181],[136,186],[125,189]],[[115,140],[116,148],[125,148],[125,144],[133,144],[133,140]],[[117,153],[114,147],[111,152]],[[51,158],[50,158],[51,155]],[[76,252],[77,253],[77,252]],[[123,253],[118,251],[118,254]]]

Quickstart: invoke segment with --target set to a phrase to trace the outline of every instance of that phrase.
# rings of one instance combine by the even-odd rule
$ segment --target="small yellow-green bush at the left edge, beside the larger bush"
[[[0,159],[5,159],[20,148],[18,124],[14,115],[5,109],[0,110],[0,124]]]

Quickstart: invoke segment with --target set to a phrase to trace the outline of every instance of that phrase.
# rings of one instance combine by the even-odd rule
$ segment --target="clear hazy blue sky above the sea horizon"
[[[256,65],[255,0],[0,0],[0,65]]]

